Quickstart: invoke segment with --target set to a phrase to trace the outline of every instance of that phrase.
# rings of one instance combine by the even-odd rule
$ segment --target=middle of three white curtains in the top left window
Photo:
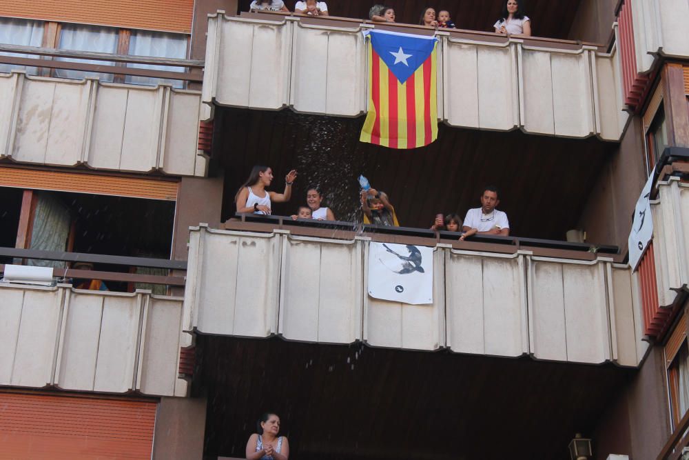
[[[61,50],[92,51],[92,52],[117,52],[117,41],[119,33],[117,29],[111,27],[96,26],[74,26],[65,24],[60,32]],[[61,61],[101,64],[105,66],[114,65],[110,61],[89,61],[87,59],[67,59],[59,58]],[[112,81],[112,74],[98,74],[95,72],[82,72],[81,70],[62,70],[55,71],[57,77],[83,79],[84,77],[99,77],[101,81]]]

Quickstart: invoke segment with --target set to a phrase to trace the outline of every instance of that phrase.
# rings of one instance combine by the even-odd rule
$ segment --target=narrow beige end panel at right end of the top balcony
[[[600,137],[606,141],[619,141],[629,118],[622,110],[618,62],[615,50],[613,54],[595,55],[597,119]]]

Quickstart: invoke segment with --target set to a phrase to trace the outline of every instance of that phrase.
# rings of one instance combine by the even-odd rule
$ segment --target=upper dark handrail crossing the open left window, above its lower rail
[[[63,262],[105,263],[108,265],[125,265],[145,268],[167,268],[169,270],[187,270],[187,261],[152,259],[148,257],[126,257],[105,254],[87,254],[85,252],[0,248],[0,257],[17,257],[18,259],[38,259]]]

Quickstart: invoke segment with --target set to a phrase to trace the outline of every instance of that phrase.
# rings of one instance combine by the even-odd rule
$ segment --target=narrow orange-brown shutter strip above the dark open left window
[[[23,168],[0,168],[0,187],[176,201],[177,181]]]

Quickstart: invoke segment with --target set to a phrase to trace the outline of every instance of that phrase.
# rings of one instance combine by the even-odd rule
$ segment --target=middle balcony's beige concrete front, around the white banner
[[[456,236],[438,243],[424,230],[226,227],[192,228],[186,331],[621,366],[644,355],[637,287],[611,257]],[[435,248],[433,305],[368,296],[370,241]]]

